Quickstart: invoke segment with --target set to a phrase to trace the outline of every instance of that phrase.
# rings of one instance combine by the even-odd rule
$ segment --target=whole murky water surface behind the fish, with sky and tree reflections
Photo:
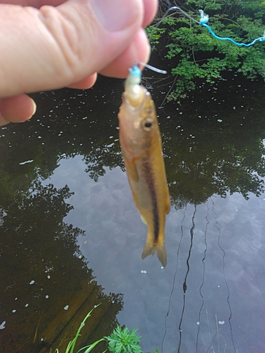
[[[263,353],[264,85],[230,72],[158,109],[172,199],[165,269],[141,260],[122,90],[100,78],[86,92],[42,92],[31,121],[0,130],[1,352],[64,352],[102,303],[81,345],[119,323],[139,329],[145,353]]]

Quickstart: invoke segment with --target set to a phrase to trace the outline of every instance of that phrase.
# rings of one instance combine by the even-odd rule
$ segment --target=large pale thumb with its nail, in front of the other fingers
[[[0,10],[0,97],[60,88],[102,71],[143,22],[142,0],[69,0],[40,9],[1,4]]]

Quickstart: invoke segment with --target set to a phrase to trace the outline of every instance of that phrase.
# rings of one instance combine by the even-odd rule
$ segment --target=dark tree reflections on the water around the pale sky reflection
[[[118,81],[113,99],[114,81],[102,82],[104,98],[98,101],[93,90],[36,95],[38,111],[32,121],[0,130],[0,311],[6,321],[0,342],[6,353],[39,352],[44,343],[48,349],[66,344],[86,313],[102,302],[82,332],[93,342],[110,333],[122,309],[121,296],[106,296],[93,280],[76,244],[83,231],[63,222],[71,210],[64,201],[71,196],[69,188],[36,182],[47,179],[61,159],[74,155],[83,156],[95,181],[105,167],[123,167],[117,130],[122,83]],[[244,88],[236,95],[232,87],[225,91],[225,85],[225,93],[216,93],[211,104],[205,89],[182,106],[158,111],[170,195],[177,208],[204,203],[214,193],[259,196],[264,187],[264,112],[259,106],[264,90],[252,83],[249,91],[256,90],[255,95],[242,103]],[[155,98],[156,104],[161,100]]]

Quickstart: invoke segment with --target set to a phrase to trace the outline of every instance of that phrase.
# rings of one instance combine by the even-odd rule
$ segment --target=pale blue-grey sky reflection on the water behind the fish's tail
[[[126,174],[107,169],[95,183],[81,157],[60,164],[47,182],[74,191],[65,221],[86,230],[78,241],[88,267],[106,294],[124,294],[119,323],[139,328],[144,352],[212,352],[211,340],[220,352],[264,352],[264,194],[172,208],[162,270],[156,255],[141,260],[146,225]]]

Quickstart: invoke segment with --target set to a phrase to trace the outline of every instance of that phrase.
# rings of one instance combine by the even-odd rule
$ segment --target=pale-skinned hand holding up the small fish
[[[30,119],[27,93],[126,78],[150,46],[157,0],[0,0],[0,126]]]

